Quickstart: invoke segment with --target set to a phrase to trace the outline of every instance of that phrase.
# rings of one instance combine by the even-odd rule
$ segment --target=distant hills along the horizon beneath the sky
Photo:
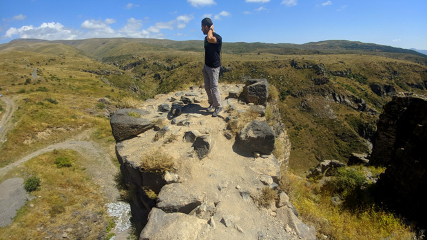
[[[103,58],[106,56],[118,56],[132,54],[146,50],[173,49],[179,51],[202,52],[203,44],[200,40],[172,41],[167,39],[81,39],[81,40],[57,40],[47,41],[41,39],[15,39],[10,43],[0,45],[0,50],[8,48],[28,48],[25,43],[63,43],[74,49]],[[47,49],[43,48],[43,51]],[[398,58],[415,63],[427,65],[427,50],[408,50],[399,47],[378,45],[374,43],[362,43],[358,41],[328,40],[304,44],[293,43],[223,43],[222,52],[229,54],[244,53],[270,53],[282,55],[313,55],[313,54],[366,54]]]

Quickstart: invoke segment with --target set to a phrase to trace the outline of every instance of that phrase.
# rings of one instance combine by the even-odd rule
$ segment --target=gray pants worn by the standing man
[[[218,87],[220,67],[212,68],[205,64],[202,72],[203,78],[205,78],[205,90],[209,105],[213,105],[213,107],[221,107],[220,89]]]

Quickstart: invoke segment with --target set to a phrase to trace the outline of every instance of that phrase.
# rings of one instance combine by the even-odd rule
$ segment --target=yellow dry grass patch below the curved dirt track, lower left
[[[54,162],[58,157],[67,157],[72,166],[57,168]],[[103,214],[105,201],[101,190],[87,177],[82,161],[78,153],[60,150],[26,162],[19,177],[36,175],[41,179],[41,186],[32,192],[35,198],[17,212],[14,222],[6,228],[0,228],[0,239],[54,237],[56,233],[65,231],[64,226],[79,226],[81,221],[90,227],[88,237],[91,239],[96,239],[100,232],[105,231],[108,218]],[[80,214],[75,215],[75,212]],[[85,219],[92,215],[98,216],[98,221]],[[69,237],[75,238],[74,233],[69,232]]]

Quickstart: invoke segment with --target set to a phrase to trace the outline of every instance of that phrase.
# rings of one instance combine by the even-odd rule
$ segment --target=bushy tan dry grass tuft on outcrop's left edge
[[[140,160],[143,171],[163,174],[174,170],[174,158],[165,153],[163,149],[156,149],[145,153]]]

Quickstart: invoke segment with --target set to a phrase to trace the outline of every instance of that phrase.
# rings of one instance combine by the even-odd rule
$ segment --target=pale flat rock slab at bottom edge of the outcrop
[[[209,225],[205,220],[180,212],[166,213],[153,208],[139,239],[204,239],[203,236],[208,231]]]

